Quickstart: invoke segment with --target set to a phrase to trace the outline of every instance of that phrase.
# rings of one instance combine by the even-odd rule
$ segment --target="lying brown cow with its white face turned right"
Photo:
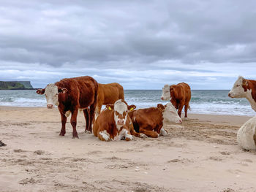
[[[159,135],[167,136],[167,131],[162,128],[165,122],[182,122],[171,103],[167,103],[165,106],[157,104],[157,107],[135,110],[129,112],[129,116],[135,131],[154,138],[159,137]]]

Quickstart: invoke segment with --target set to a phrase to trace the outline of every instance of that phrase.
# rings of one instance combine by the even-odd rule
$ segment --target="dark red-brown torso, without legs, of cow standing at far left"
[[[79,108],[89,107],[97,98],[98,83],[89,76],[63,79],[56,85],[67,88],[69,101]]]

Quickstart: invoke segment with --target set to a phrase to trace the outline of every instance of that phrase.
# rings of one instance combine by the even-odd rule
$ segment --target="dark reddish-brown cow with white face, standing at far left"
[[[72,114],[70,119],[73,128],[72,138],[78,138],[76,124],[79,109],[83,110],[86,118],[86,131],[91,131],[91,122],[97,105],[97,93],[98,83],[89,76],[63,79],[37,90],[37,94],[45,94],[48,109],[52,109],[53,105],[58,106],[62,124],[60,136],[66,134],[67,117],[70,113]]]

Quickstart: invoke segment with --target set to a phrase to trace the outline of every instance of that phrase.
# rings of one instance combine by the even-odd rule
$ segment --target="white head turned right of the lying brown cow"
[[[173,107],[173,104],[167,103],[167,104],[165,104],[165,106],[162,104],[157,104],[157,108],[158,108],[158,110],[160,110],[160,112],[162,112],[162,117],[167,122],[182,123],[182,120],[178,116],[178,112],[175,109],[175,107]]]

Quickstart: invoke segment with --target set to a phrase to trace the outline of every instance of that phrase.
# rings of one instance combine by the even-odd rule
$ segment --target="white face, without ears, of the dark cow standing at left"
[[[54,84],[48,84],[45,88],[45,97],[47,104],[59,106],[59,91],[58,87]]]

